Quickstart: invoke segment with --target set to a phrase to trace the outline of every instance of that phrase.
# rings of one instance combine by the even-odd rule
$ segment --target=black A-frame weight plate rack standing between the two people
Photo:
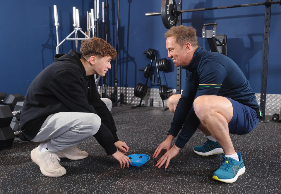
[[[151,62],[150,62],[150,68],[152,69],[152,64],[153,64],[153,60],[155,60],[155,67],[156,67],[156,69],[157,69],[157,75],[158,75],[158,83],[155,83],[154,82],[154,79],[152,79],[152,83],[151,84],[159,84],[160,86],[159,86],[159,89],[160,88],[163,88],[162,86],[164,86],[164,85],[162,85],[161,84],[161,80],[160,80],[160,74],[159,74],[159,69],[158,69],[158,64],[157,64],[157,57],[156,57],[156,50],[154,50],[154,49],[148,49],[147,51],[144,51],[144,54],[146,54],[146,56],[147,56],[147,58],[149,58],[149,59],[151,59]],[[140,70],[142,70],[142,68],[140,69]],[[137,91],[140,91],[140,89],[143,89],[143,91],[145,91],[145,93],[144,93],[144,95],[141,95],[141,98],[140,98],[140,104],[139,105],[136,105],[136,106],[132,106],[131,108],[136,108],[136,107],[140,107],[140,106],[142,106],[141,105],[141,103],[142,103],[142,100],[143,100],[143,98],[145,97],[145,94],[146,94],[146,91],[148,90],[148,88],[147,88],[147,84],[148,84],[148,79],[150,78],[150,76],[148,76],[147,78],[146,78],[146,81],[145,81],[145,85],[143,85],[143,84],[137,84],[137,86],[136,86],[136,88],[135,88],[135,91],[137,90]],[[142,88],[143,87],[143,88]],[[170,90],[169,90],[170,91]],[[165,104],[164,104],[164,100],[162,99],[162,104],[163,104],[163,111],[165,111],[165,110],[167,110],[168,109],[168,107],[165,107]]]

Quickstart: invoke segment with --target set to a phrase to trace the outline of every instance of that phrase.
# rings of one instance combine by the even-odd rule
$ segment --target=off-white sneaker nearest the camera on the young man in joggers
[[[62,176],[66,174],[66,169],[59,164],[59,157],[56,153],[40,152],[41,144],[31,151],[32,161],[40,167],[45,176]]]

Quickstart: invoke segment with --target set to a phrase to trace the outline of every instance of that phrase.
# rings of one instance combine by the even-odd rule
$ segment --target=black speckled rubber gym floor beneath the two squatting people
[[[197,131],[167,169],[157,169],[152,155],[165,139],[172,122],[170,111],[160,107],[117,106],[112,109],[117,134],[130,147],[129,154],[143,153],[150,160],[142,166],[120,169],[95,138],[78,145],[89,153],[83,160],[62,158],[66,175],[47,177],[30,159],[39,143],[15,138],[12,147],[0,151],[0,194],[8,193],[281,193],[281,123],[258,123],[251,133],[231,135],[242,153],[246,172],[235,183],[211,179],[222,158],[200,156],[193,147],[205,142]],[[158,156],[160,158],[163,153]]]

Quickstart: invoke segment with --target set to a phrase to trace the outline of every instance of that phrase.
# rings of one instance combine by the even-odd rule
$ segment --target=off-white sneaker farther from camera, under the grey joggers
[[[58,151],[56,152],[56,155],[58,155],[60,158],[68,158],[70,160],[80,160],[88,157],[88,153],[79,150],[77,146]]]

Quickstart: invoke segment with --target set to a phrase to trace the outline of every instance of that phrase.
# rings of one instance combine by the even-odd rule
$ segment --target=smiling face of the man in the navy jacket
[[[189,62],[186,61],[187,53],[185,46],[181,48],[179,44],[175,43],[175,38],[173,36],[167,38],[166,48],[168,50],[168,58],[173,60],[175,67],[189,64]]]

